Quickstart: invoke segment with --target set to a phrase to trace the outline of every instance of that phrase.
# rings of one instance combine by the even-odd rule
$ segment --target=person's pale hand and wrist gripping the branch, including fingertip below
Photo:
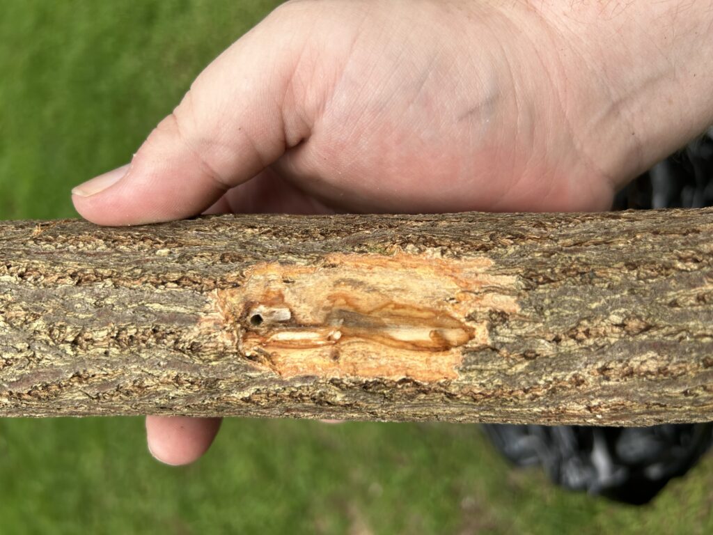
[[[101,225],[605,210],[713,124],[712,51],[713,0],[291,1],[73,202]],[[149,416],[149,449],[190,463],[219,427]]]

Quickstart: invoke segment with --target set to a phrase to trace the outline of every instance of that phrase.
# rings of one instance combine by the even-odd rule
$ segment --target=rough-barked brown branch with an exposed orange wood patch
[[[713,210],[0,223],[0,415],[713,420]]]

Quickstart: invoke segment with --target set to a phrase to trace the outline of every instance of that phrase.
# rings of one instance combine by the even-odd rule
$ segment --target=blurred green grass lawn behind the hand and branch
[[[0,0],[0,218],[76,215],[200,69],[276,1]],[[512,471],[476,426],[233,419],[197,464],[140,419],[0,420],[0,534],[713,530],[713,457],[635,509]]]

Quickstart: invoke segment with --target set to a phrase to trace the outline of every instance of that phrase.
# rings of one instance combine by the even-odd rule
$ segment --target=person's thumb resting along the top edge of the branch
[[[196,215],[309,135],[288,91],[306,33],[294,19],[284,31],[282,11],[205,68],[130,165],[72,190],[84,218],[135,225]]]

